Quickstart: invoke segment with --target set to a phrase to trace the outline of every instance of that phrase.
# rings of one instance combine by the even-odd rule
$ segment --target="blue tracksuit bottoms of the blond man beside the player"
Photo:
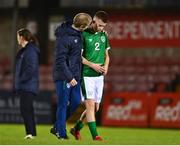
[[[55,128],[60,136],[66,137],[66,120],[76,111],[81,102],[80,81],[71,87],[66,81],[56,81],[58,96]]]

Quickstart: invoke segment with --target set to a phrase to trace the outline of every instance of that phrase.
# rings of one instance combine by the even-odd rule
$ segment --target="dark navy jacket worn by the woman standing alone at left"
[[[28,43],[16,56],[14,87],[15,91],[38,93],[39,87],[39,49]]]

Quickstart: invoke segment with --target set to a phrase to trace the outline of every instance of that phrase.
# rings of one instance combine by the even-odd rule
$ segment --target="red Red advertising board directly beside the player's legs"
[[[105,96],[102,124],[106,126],[147,127],[147,95],[141,93],[113,93]]]

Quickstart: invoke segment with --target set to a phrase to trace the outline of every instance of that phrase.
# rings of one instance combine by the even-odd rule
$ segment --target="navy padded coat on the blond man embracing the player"
[[[72,23],[64,22],[55,30],[56,48],[53,79],[70,82],[81,77],[81,32],[72,28]]]

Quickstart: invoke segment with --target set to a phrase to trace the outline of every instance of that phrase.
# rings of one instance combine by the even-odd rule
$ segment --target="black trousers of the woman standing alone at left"
[[[36,136],[36,123],[34,116],[33,100],[35,95],[31,92],[20,92],[20,111],[24,120],[26,135]]]

